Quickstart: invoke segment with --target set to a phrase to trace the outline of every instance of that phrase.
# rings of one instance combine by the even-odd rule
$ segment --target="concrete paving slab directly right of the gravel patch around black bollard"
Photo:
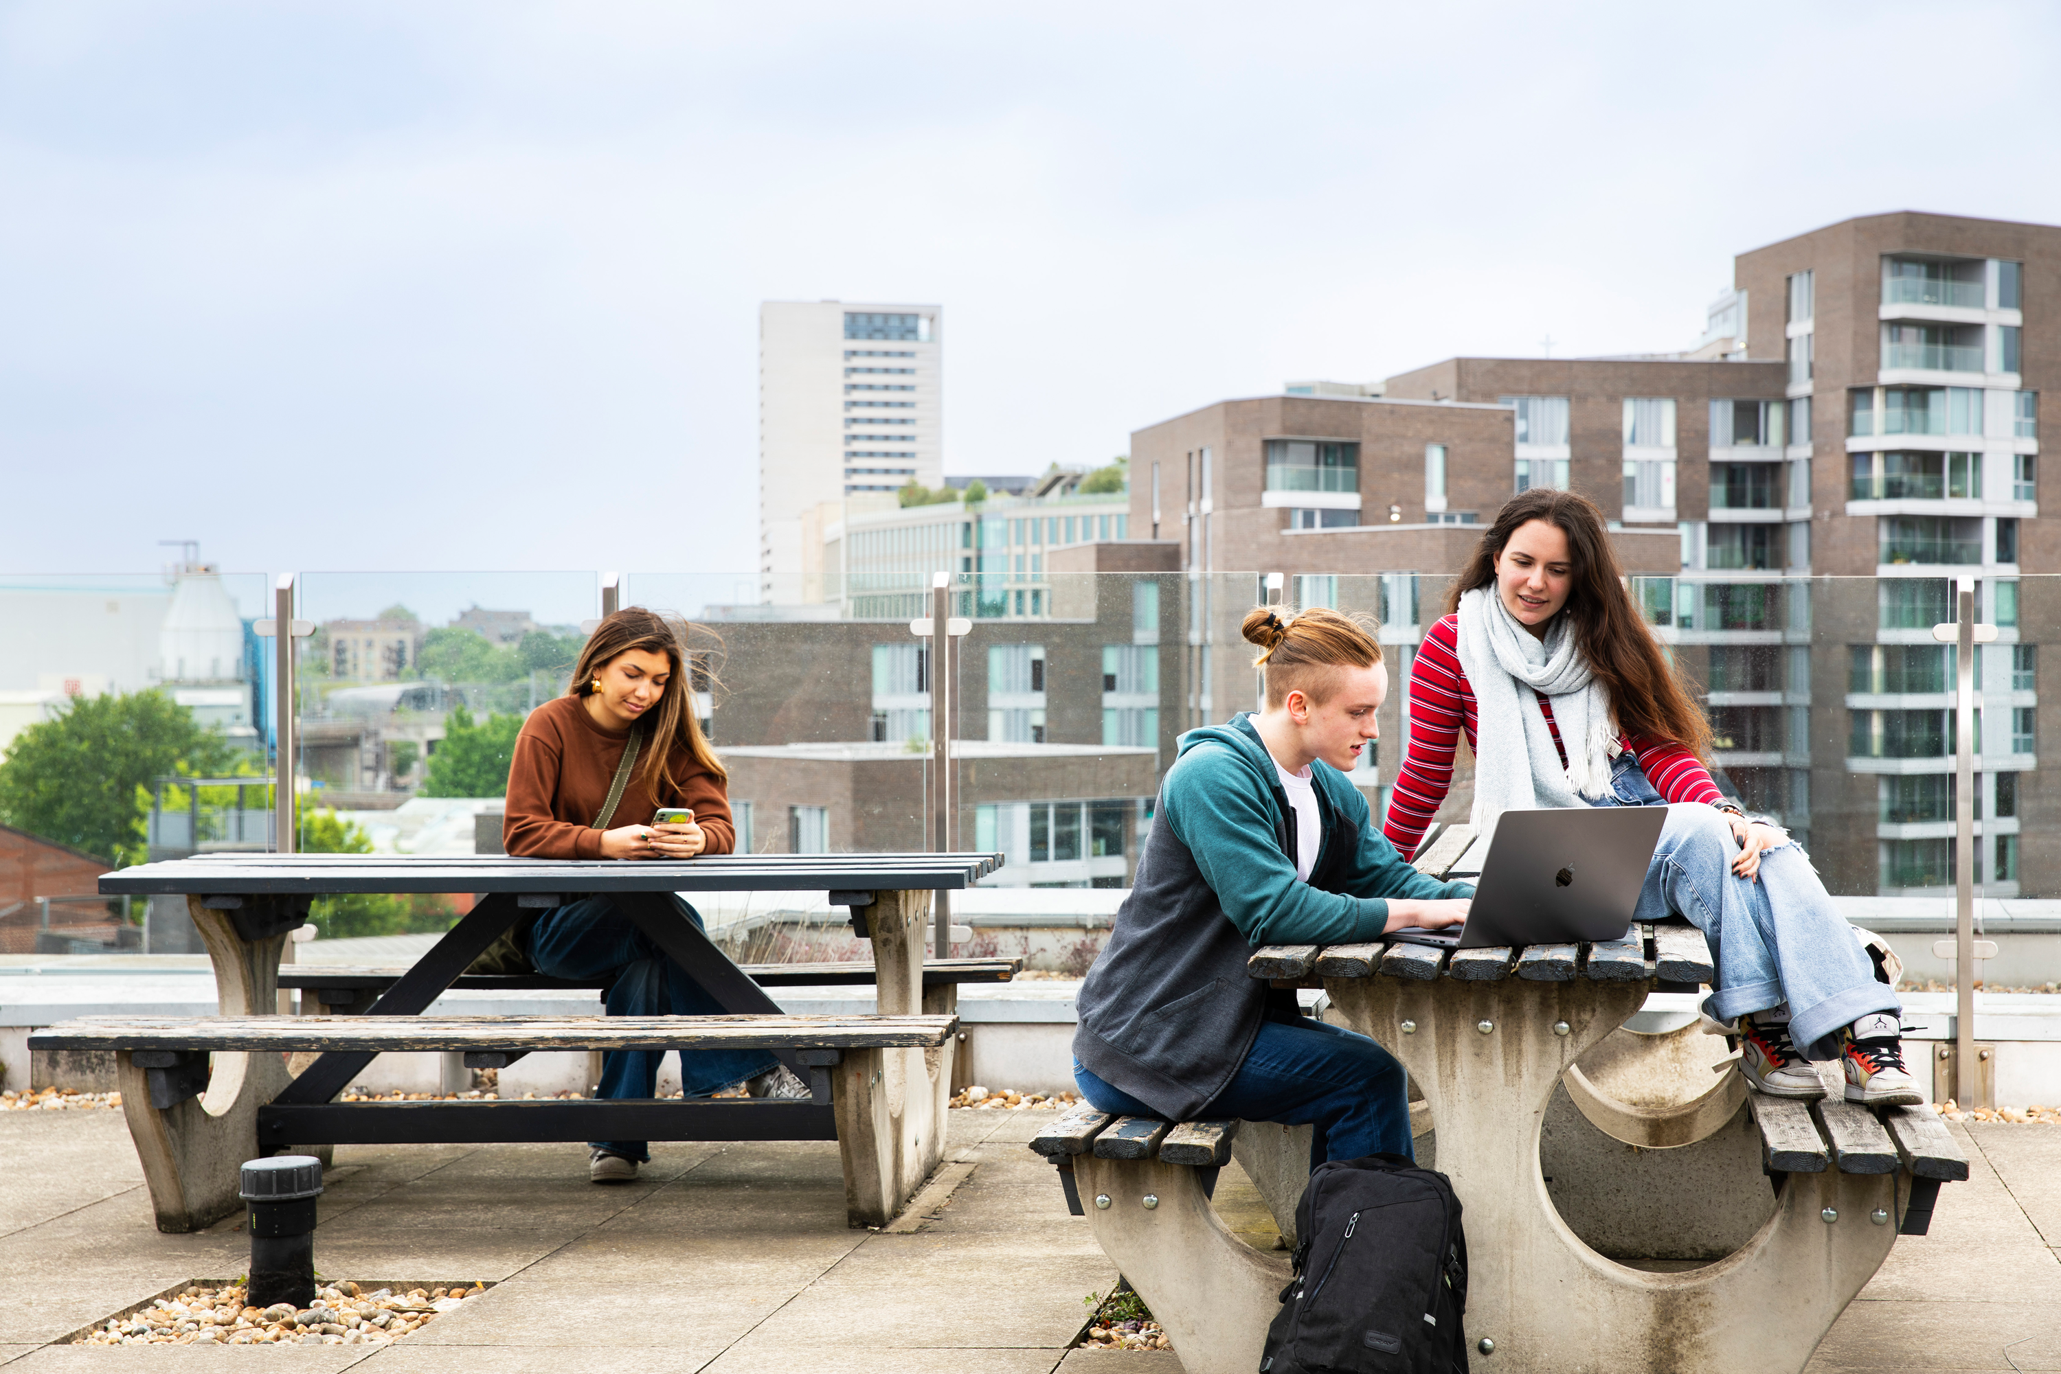
[[[791,1290],[672,1271],[672,1281],[515,1279],[408,1337],[423,1345],[666,1347],[713,1360],[789,1300]],[[478,1304],[476,1308],[472,1304]]]

